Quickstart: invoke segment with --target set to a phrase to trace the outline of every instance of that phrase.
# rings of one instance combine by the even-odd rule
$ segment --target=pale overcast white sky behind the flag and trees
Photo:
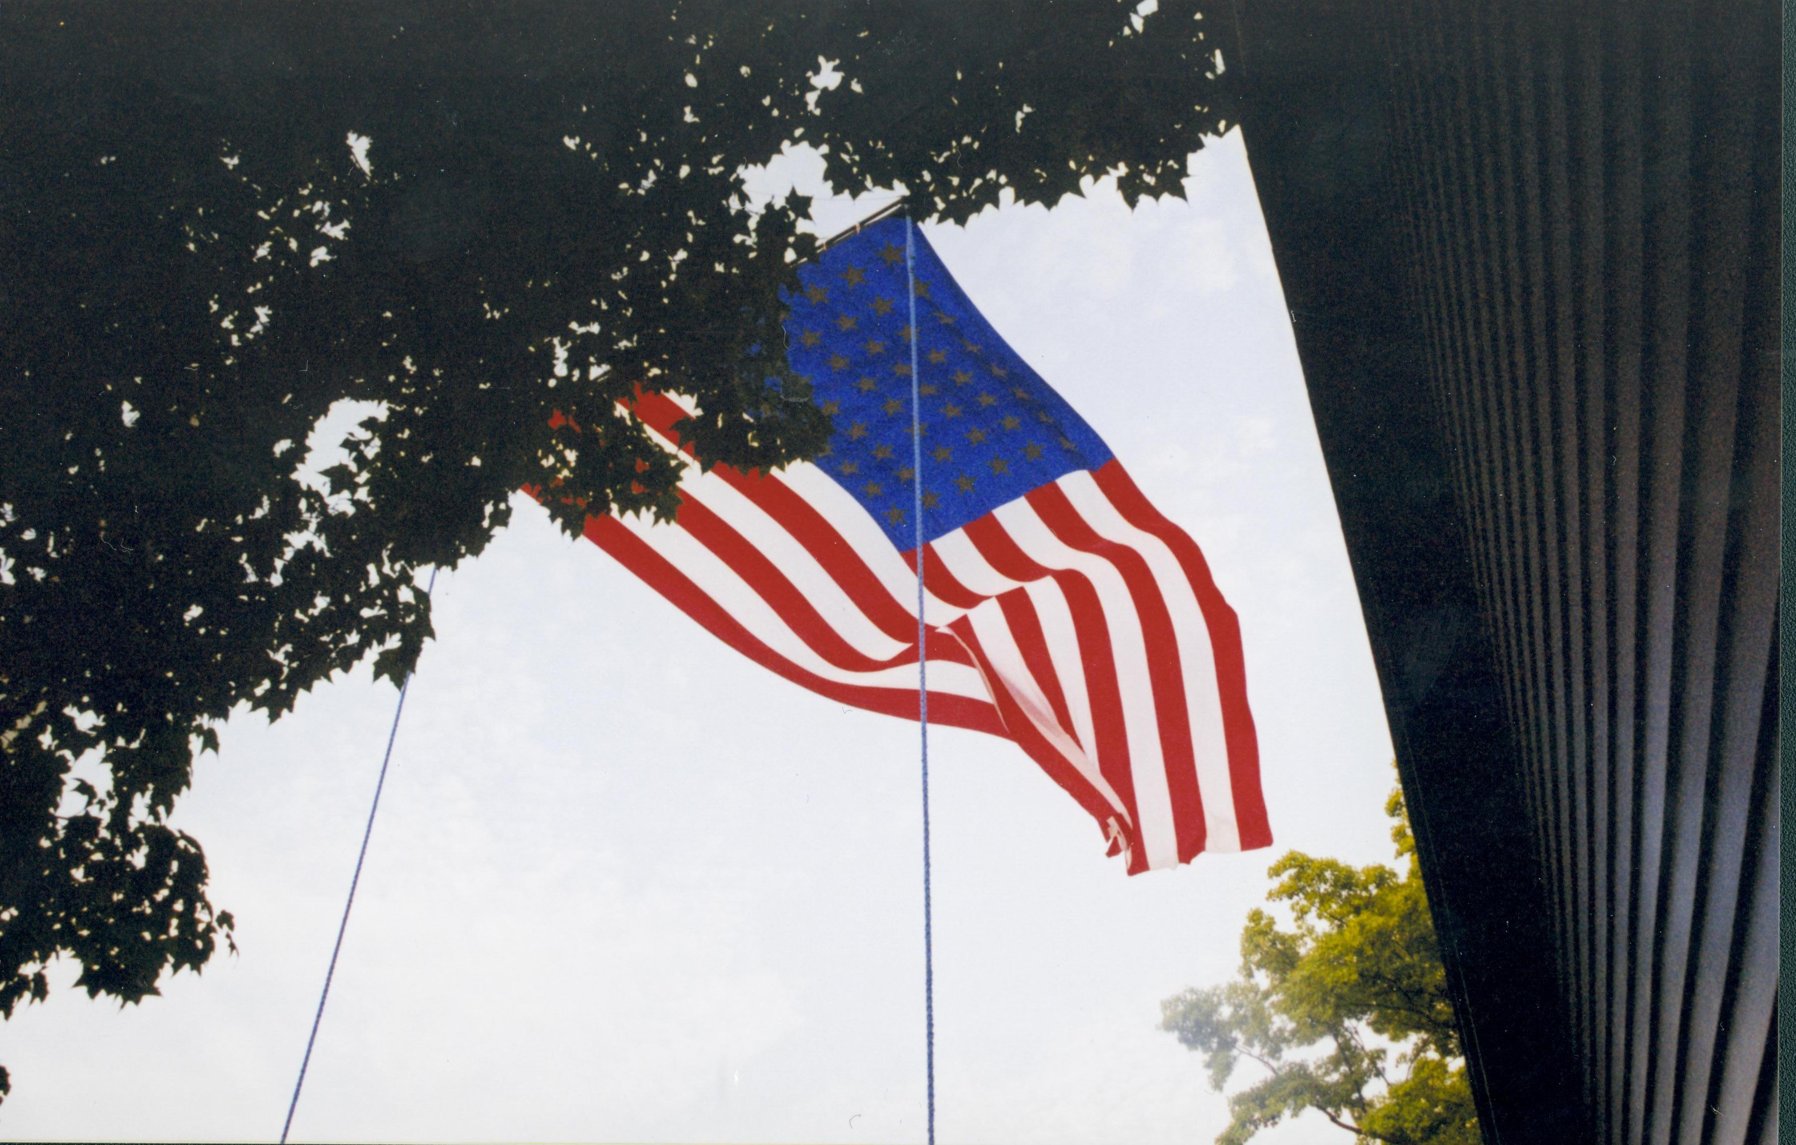
[[[1390,739],[1239,133],[1187,192],[925,230],[1203,547],[1277,843],[1128,878],[1018,748],[934,730],[943,1141],[1209,1141],[1225,1102],[1158,1001],[1234,973],[1286,849],[1392,854]],[[523,499],[435,616],[295,1138],[921,1141],[916,725],[756,668]],[[124,1010],[56,967],[0,1025],[0,1134],[278,1136],[393,702],[363,669],[228,723],[174,818],[241,955]]]

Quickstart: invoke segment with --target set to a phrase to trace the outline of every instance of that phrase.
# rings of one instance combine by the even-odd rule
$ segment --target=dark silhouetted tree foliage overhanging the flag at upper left
[[[429,635],[544,490],[674,510],[620,406],[702,465],[812,456],[783,361],[785,144],[920,219],[1115,174],[1182,194],[1225,129],[1191,0],[196,0],[0,5],[0,1014],[138,1001],[230,942],[169,813],[228,712]],[[296,479],[338,402],[348,458]],[[560,415],[560,416],[557,416]],[[77,766],[79,765],[79,766]],[[0,1071],[0,1093],[5,1075]]]

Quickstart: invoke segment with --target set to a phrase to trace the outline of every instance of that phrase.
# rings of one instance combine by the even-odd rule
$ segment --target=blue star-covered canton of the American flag
[[[799,269],[787,361],[835,424],[817,458],[900,551],[916,547],[905,221],[875,223]],[[923,538],[934,540],[1110,449],[973,309],[916,232]]]

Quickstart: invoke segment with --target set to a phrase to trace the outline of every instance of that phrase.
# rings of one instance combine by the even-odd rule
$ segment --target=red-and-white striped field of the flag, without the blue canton
[[[659,395],[641,409],[672,420]],[[751,659],[848,704],[905,714],[916,642],[900,617],[916,617],[916,567],[869,511],[808,461],[776,474],[702,472],[665,429],[645,427],[682,461],[682,511],[674,524],[621,517],[621,531],[594,540]],[[930,693],[950,707],[972,704],[955,709],[963,727],[1018,739],[1099,826],[1133,820],[1131,870],[1173,867],[1180,847],[1241,847],[1234,784],[1237,766],[1254,766],[1252,725],[1225,721],[1219,680],[1232,673],[1230,704],[1243,705],[1237,637],[1232,626],[1218,637],[1205,621],[1205,607],[1232,616],[1219,601],[1200,603],[1202,556],[1175,547],[1182,535],[1137,526],[1140,506],[1112,501],[1106,474],[1067,474],[930,542],[939,571],[959,581],[927,592],[930,630],[954,642],[930,657]],[[1121,468],[1108,477],[1131,494]],[[645,564],[634,546],[666,565]],[[981,603],[948,605],[938,590]],[[955,621],[964,641],[948,628]],[[1232,668],[1218,660],[1218,639]],[[832,691],[837,684],[850,691]],[[1227,711],[1246,718],[1245,707]],[[1243,738],[1245,763],[1230,759],[1230,736]],[[1248,799],[1241,815],[1263,815],[1257,790]],[[1254,845],[1264,845],[1264,827],[1254,829]]]

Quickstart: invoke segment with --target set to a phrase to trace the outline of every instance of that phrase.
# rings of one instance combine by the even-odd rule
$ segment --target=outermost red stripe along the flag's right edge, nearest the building
[[[1198,596],[1198,608],[1211,630],[1211,650],[1216,657],[1216,689],[1221,695],[1223,738],[1228,743],[1228,786],[1234,791],[1241,849],[1270,847],[1272,826],[1266,822],[1266,799],[1259,790],[1259,734],[1254,730],[1254,712],[1246,705],[1241,621],[1216,587],[1198,542],[1153,508],[1119,461],[1106,461],[1092,477],[1124,520],[1158,537],[1173,551],[1191,581],[1191,590]]]

